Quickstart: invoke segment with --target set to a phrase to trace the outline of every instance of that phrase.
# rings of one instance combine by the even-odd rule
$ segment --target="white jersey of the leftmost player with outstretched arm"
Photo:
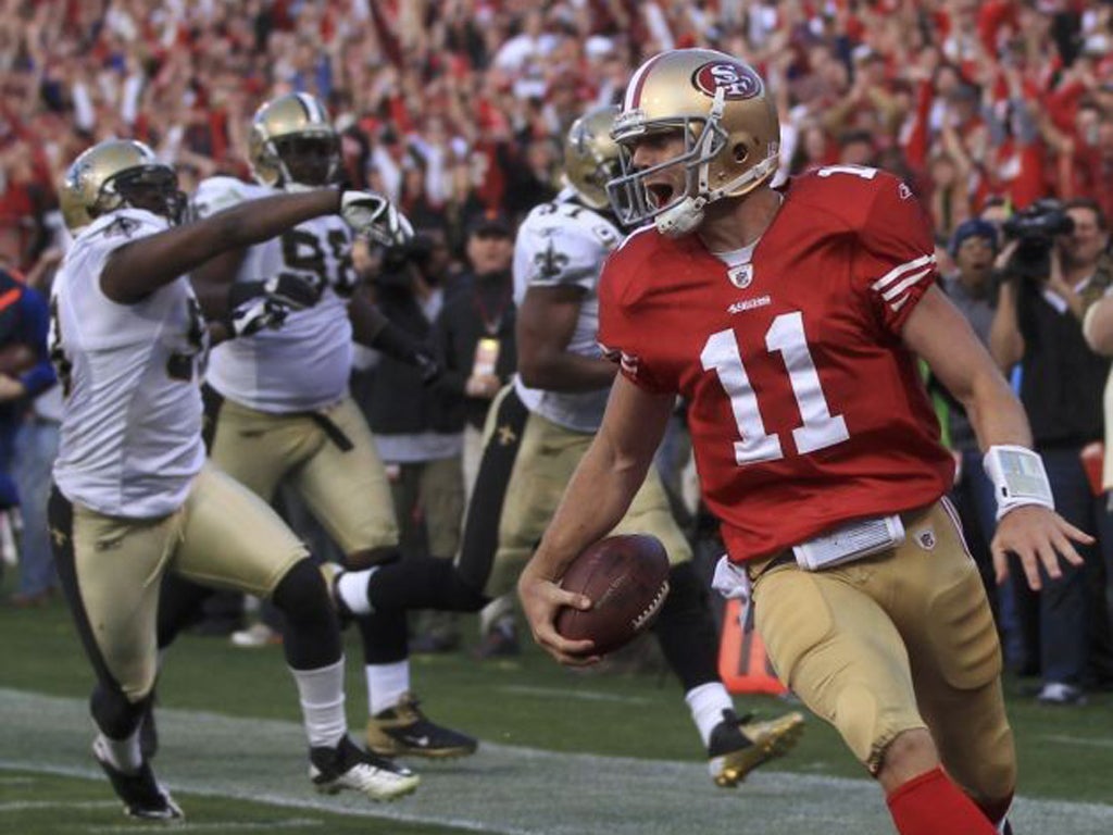
[[[55,482],[99,513],[154,519],[186,500],[205,461],[200,376],[208,332],[181,276],[135,304],[100,288],[108,256],[168,224],[142,209],[98,218],[51,292],[50,347],[66,393]]]

